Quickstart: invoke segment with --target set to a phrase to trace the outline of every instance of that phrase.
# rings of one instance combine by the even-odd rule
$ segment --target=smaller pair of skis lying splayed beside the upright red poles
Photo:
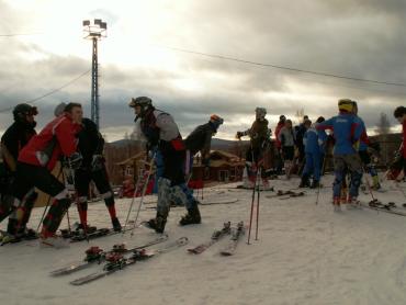
[[[215,230],[212,235],[211,240],[203,242],[194,248],[188,249],[188,252],[193,255],[200,255],[204,252],[207,248],[212,247],[214,244],[222,240],[225,236],[230,236],[228,245],[223,248],[219,253],[222,256],[233,256],[237,249],[238,241],[241,239],[241,236],[245,234],[245,226],[243,222],[239,222],[236,227],[232,227],[232,223],[225,223],[223,228]]]

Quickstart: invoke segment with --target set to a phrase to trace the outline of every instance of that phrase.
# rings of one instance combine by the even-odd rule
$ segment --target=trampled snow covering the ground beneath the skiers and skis
[[[248,225],[251,191],[227,190],[225,185],[207,189],[205,200],[238,201],[201,206],[203,223],[189,227],[178,226],[184,208],[172,208],[167,233],[170,240],[187,236],[188,246],[83,286],[72,286],[69,281],[101,270],[101,266],[60,278],[50,278],[48,272],[81,260],[90,246],[110,249],[123,241],[128,247],[142,245],[155,233],[140,227],[134,237],[114,235],[58,250],[40,248],[36,240],[0,247],[0,297],[7,300],[2,304],[406,304],[406,217],[369,208],[343,207],[342,213],[334,213],[328,188],[331,181],[330,176],[324,179],[327,188],[320,189],[318,205],[314,190],[289,200],[268,199],[266,195],[273,193],[262,192],[259,240],[253,240],[253,226],[252,245],[246,244],[247,231],[232,257],[219,256],[227,236],[199,256],[187,253],[187,248],[207,241],[226,221]],[[287,190],[298,184],[298,179],[272,180],[271,184]],[[384,183],[388,190],[391,185]],[[375,196],[383,202],[405,202],[396,191]],[[370,201],[362,193],[360,199]],[[136,199],[133,216],[138,202]],[[117,200],[122,222],[129,203],[131,199]],[[33,227],[42,212],[33,211]],[[144,206],[139,218],[154,215],[154,210]],[[78,219],[75,208],[70,217],[71,223]],[[111,225],[103,202],[89,205],[89,223]],[[5,225],[3,222],[1,228]],[[66,219],[61,227],[67,227]]]

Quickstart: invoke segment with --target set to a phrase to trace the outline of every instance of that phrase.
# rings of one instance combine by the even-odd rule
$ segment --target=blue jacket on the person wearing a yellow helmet
[[[362,123],[357,115],[341,112],[337,116],[317,124],[316,129],[331,129],[334,132],[336,140],[334,155],[352,155],[357,152],[353,145],[360,139],[362,133]]]

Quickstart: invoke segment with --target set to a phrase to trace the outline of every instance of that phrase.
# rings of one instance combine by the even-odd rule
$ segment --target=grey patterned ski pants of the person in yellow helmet
[[[358,196],[358,191],[362,179],[362,165],[359,155],[351,154],[334,156],[334,170],[335,170],[335,181],[332,185],[334,197],[339,199],[341,195],[341,185],[347,169],[351,173],[349,195],[351,197]]]

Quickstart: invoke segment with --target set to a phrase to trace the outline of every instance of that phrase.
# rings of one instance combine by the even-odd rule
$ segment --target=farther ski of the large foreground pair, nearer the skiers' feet
[[[103,251],[99,247],[91,247],[88,250],[86,250],[86,258],[82,261],[71,262],[67,267],[59,268],[57,270],[52,271],[49,275],[59,276],[59,275],[70,274],[76,271],[88,268],[94,263],[103,262],[105,260],[105,257],[109,253],[113,253],[113,252],[127,253],[127,252],[131,252],[137,249],[143,249],[143,248],[147,248],[147,247],[163,242],[166,240],[168,240],[168,235],[162,235],[145,245],[137,246],[131,249],[126,249],[124,245],[114,245],[113,249],[111,249],[110,251]]]

